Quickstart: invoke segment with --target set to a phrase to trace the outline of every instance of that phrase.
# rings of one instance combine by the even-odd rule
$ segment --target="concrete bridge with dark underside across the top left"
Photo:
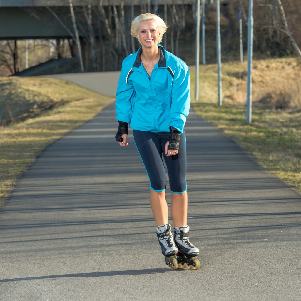
[[[99,0],[73,0],[73,6],[98,6]],[[112,3],[112,2],[111,2]],[[192,4],[193,0],[159,0],[159,5]],[[120,0],[115,0],[116,6]],[[141,5],[141,0],[135,0],[135,5]],[[145,1],[145,5],[148,1]],[[103,6],[108,0],[103,0]],[[131,5],[131,0],[124,1],[124,5]],[[151,1],[154,5],[154,0]],[[55,11],[58,17],[73,33],[72,20],[69,11],[69,0],[0,0],[0,39],[51,39],[71,38],[68,30],[54,17],[48,7]],[[57,9],[59,8],[59,9]]]

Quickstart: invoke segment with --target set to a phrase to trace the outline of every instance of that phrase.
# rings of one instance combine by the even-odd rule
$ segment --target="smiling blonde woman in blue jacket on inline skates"
[[[141,14],[132,21],[131,34],[138,38],[141,47],[122,63],[116,92],[119,127],[115,138],[120,146],[126,147],[130,123],[150,179],[150,202],[161,251],[166,256],[166,264],[177,268],[175,254],[181,254],[178,261],[182,265],[195,266],[198,260],[194,256],[199,254],[199,250],[189,242],[187,225],[186,139],[183,128],[190,106],[189,69],[181,59],[160,45],[166,29],[164,21],[151,13]],[[172,192],[174,236],[168,222],[162,154]]]

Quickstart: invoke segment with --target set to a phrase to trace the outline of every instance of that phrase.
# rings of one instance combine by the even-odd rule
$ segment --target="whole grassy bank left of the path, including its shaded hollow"
[[[50,143],[92,119],[113,98],[70,82],[47,78],[0,78],[0,205],[21,172]],[[23,121],[22,121],[23,120]]]

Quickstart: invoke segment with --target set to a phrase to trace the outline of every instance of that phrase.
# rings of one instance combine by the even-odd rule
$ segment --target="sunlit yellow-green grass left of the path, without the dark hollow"
[[[0,203],[7,199],[16,178],[36,160],[36,156],[47,145],[92,119],[103,107],[114,101],[113,98],[99,95],[64,80],[47,78],[9,80],[11,87],[20,83],[26,85],[23,99],[36,93],[60,106],[44,110],[38,116],[28,118],[26,121],[0,127]],[[19,99],[22,99],[22,88],[18,88],[17,93]]]

